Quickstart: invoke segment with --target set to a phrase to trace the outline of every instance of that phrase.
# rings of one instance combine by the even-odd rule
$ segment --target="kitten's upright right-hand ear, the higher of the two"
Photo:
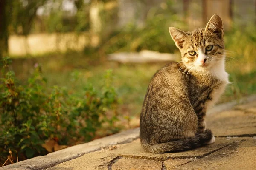
[[[223,38],[223,23],[221,17],[218,14],[212,15],[211,19],[207,23],[205,30],[206,33],[217,34],[217,36],[221,39]]]

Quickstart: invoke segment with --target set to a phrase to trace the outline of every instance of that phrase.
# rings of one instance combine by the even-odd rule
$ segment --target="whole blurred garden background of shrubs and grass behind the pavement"
[[[169,26],[215,13],[232,82],[220,103],[255,94],[256,0],[0,0],[0,163],[138,127],[151,77],[180,60]]]

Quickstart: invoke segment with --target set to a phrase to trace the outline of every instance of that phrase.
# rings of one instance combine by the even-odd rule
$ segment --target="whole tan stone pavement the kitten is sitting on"
[[[146,153],[139,129],[2,167],[3,170],[256,170],[256,101],[207,115],[214,144],[177,153]],[[63,163],[61,163],[63,162]],[[1,168],[0,168],[1,170]]]

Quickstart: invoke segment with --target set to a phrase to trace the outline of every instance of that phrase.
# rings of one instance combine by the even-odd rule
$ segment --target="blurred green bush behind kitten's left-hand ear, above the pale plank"
[[[138,26],[136,19],[134,19],[127,26],[113,31],[102,40],[100,50],[106,54],[144,49],[173,53],[176,47],[168,28],[175,25],[180,26],[180,28],[186,26],[182,18],[175,13],[173,3],[172,0],[166,0],[164,8],[159,6],[151,8],[143,26]]]

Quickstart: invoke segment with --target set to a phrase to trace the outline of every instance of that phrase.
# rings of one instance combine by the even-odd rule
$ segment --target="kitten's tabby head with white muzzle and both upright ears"
[[[187,67],[209,69],[224,61],[223,23],[218,14],[211,17],[205,28],[184,32],[170,27],[169,31]]]

